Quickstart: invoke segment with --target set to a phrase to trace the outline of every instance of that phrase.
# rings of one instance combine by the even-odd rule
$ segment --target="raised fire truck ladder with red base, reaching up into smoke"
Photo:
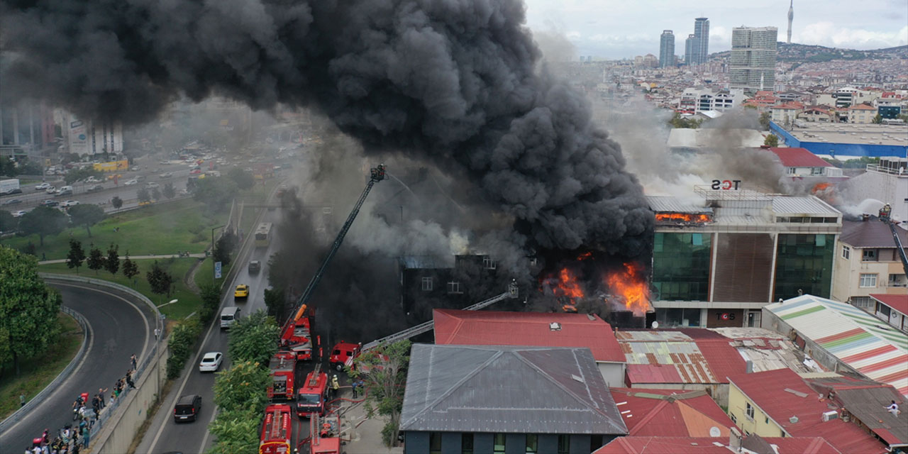
[[[385,174],[385,164],[379,164],[378,167],[370,169],[369,183],[366,183],[365,189],[362,190],[360,200],[353,206],[353,210],[350,212],[350,215],[347,216],[347,221],[344,222],[341,227],[341,232],[338,232],[337,238],[335,238],[334,242],[331,244],[331,250],[321,262],[319,269],[312,275],[312,279],[309,281],[309,285],[306,286],[306,290],[302,291],[300,300],[296,302],[293,311],[291,312],[295,312],[293,317],[288,319],[281,328],[281,346],[296,351],[298,358],[301,360],[310,360],[312,357],[310,321],[308,317],[303,317],[306,308],[309,305],[309,301],[312,298],[312,293],[319,285],[321,276],[324,275],[325,270],[328,268],[328,264],[331,263],[331,259],[334,258],[338,249],[341,248],[341,243],[343,242],[344,237],[347,236],[350,226],[353,225],[356,215],[360,213],[362,203],[366,202],[366,196],[369,195],[372,186],[385,178],[387,178]]]

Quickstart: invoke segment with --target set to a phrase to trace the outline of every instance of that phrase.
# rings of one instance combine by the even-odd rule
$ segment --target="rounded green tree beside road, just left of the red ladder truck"
[[[268,363],[278,350],[281,329],[263,310],[234,321],[230,327],[228,351],[234,361]]]

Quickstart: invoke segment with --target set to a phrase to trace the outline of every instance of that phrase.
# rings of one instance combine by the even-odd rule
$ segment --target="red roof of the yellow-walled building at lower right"
[[[818,398],[817,392],[793,370],[743,374],[732,378],[731,383],[793,437],[822,437],[835,449],[846,453],[883,454],[888,450],[854,423],[842,419],[824,422],[822,415],[829,411],[827,400]],[[792,417],[797,418],[796,422],[791,422]]]

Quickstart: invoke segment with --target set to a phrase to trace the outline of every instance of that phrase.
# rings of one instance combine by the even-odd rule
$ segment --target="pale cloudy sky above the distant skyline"
[[[577,54],[617,59],[659,54],[659,35],[675,33],[675,53],[709,18],[709,52],[731,48],[736,26],[775,26],[785,41],[789,0],[525,0],[534,31],[558,32]],[[850,49],[908,44],[908,0],[795,0],[792,42]]]

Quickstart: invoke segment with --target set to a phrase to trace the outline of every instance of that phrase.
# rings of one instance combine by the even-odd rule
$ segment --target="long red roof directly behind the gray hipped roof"
[[[625,362],[611,325],[596,315],[436,309],[435,343],[587,347],[597,361]]]

